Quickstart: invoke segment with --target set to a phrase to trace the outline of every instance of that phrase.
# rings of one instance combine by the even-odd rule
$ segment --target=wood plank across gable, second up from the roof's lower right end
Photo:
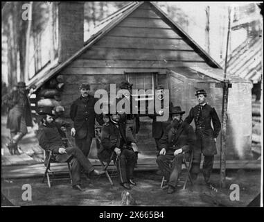
[[[81,59],[125,59],[125,60],[177,60],[204,61],[193,51],[157,50],[157,49],[110,49],[92,46],[80,56]]]

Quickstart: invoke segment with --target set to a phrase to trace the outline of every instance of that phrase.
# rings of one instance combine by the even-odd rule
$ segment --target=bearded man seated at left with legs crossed
[[[80,151],[79,148],[69,146],[65,147],[62,142],[59,129],[62,127],[61,124],[56,123],[53,119],[54,114],[49,108],[43,108],[39,114],[42,116],[41,125],[37,130],[37,139],[39,146],[44,148],[45,151],[52,151],[53,158],[58,162],[66,162],[71,159],[71,173],[73,180],[73,189],[84,191],[80,187],[80,170],[85,169],[87,176],[89,174],[100,175],[103,171],[97,171],[87,157]],[[66,127],[66,126],[64,126]]]

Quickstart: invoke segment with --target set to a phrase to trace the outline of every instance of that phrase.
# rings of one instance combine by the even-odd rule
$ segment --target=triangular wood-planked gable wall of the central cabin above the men
[[[118,26],[73,61],[62,74],[124,74],[159,71],[168,67],[205,64],[148,4],[132,12]]]

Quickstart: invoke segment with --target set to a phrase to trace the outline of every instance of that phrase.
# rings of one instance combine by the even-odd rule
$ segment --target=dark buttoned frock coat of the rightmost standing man
[[[197,137],[197,146],[201,148],[204,155],[215,155],[217,153],[214,138],[218,137],[221,130],[221,122],[215,108],[207,103],[202,106],[199,113],[199,105],[191,108],[188,117],[184,121],[191,123],[194,119]],[[213,123],[213,128],[211,127]]]

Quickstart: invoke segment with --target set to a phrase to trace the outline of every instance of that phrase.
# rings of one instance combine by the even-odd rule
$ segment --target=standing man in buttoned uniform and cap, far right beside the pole
[[[200,162],[202,154],[204,155],[203,175],[206,185],[210,186],[209,182],[211,171],[213,169],[213,158],[217,153],[215,142],[221,130],[221,122],[218,114],[211,105],[206,103],[206,92],[204,89],[196,91],[198,105],[191,108],[188,117],[184,121],[191,123],[195,122],[196,146],[193,153],[193,165],[191,167],[191,175],[195,180],[200,171]],[[213,123],[213,128],[211,127]]]

